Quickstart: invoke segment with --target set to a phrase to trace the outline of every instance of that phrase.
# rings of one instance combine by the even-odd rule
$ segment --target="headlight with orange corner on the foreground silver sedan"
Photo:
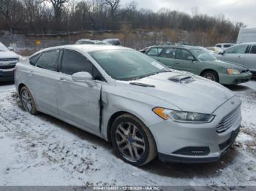
[[[201,114],[195,112],[181,112],[172,109],[156,107],[153,112],[164,120],[173,120],[176,122],[211,122],[214,119],[213,114]]]

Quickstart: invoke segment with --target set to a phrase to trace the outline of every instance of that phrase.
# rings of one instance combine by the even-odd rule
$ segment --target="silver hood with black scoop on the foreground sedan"
[[[186,112],[211,114],[234,96],[217,82],[187,72],[160,73],[129,84],[137,92],[159,98]]]

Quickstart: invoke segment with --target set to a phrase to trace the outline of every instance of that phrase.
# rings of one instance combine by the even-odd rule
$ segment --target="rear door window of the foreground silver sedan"
[[[37,67],[50,71],[58,71],[60,50],[50,50],[43,52],[37,61]]]

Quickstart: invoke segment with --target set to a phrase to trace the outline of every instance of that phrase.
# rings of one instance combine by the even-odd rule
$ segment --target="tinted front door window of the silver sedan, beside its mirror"
[[[78,52],[65,50],[62,58],[61,72],[72,75],[80,71],[87,71],[92,75],[91,62]]]

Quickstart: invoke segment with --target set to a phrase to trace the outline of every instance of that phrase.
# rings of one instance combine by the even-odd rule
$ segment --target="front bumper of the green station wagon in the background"
[[[252,78],[251,72],[246,72],[242,74],[219,74],[219,83],[222,85],[236,85],[245,82],[249,82]]]

